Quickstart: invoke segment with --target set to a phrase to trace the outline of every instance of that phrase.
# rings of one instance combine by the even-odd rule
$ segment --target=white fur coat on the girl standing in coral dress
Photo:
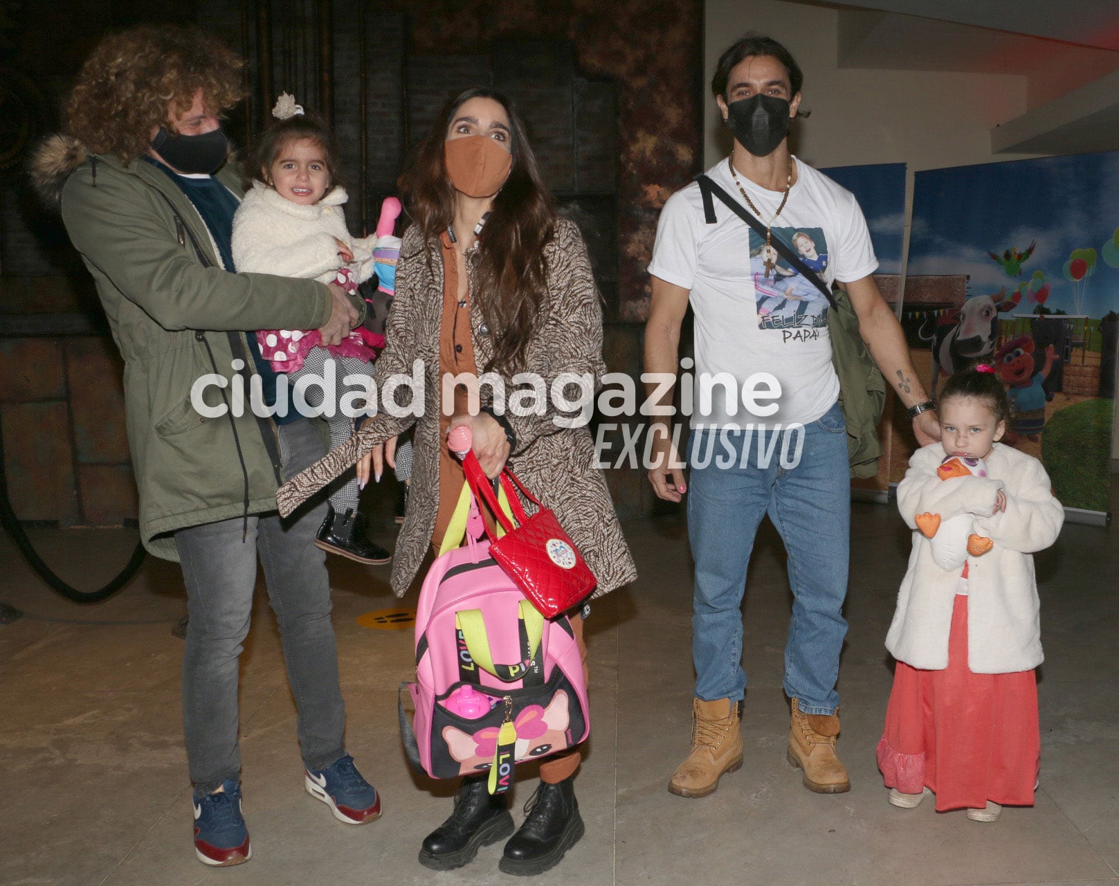
[[[932,546],[916,528],[916,516],[975,516],[977,535],[994,545],[968,557],[968,667],[975,673],[1028,670],[1042,662],[1037,584],[1032,552],[1052,545],[1064,522],[1064,508],[1053,496],[1042,463],[996,443],[987,456],[987,477],[942,481],[937,468],[944,458],[940,443],[910,459],[897,486],[897,508],[913,529],[913,552],[897,593],[897,609],[886,649],[914,668],[948,667],[948,633],[959,569],[942,569]],[[991,516],[998,490],[1006,510]]]

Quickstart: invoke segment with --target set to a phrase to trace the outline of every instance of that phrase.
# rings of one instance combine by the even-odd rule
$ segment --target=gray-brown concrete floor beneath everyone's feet
[[[759,540],[745,604],[751,677],[746,764],[717,793],[665,790],[688,744],[690,565],[681,519],[627,526],[641,578],[595,604],[589,622],[593,733],[577,781],[586,837],[542,884],[1119,884],[1119,574],[1116,529],[1068,526],[1037,557],[1046,661],[1042,667],[1042,783],[1032,809],[1000,821],[886,803],[874,748],[891,669],[883,638],[909,540],[893,507],[854,506],[850,622],[840,673],[849,793],[801,786],[784,760],[781,692],[788,624],[780,541]],[[126,560],[126,530],[36,530],[39,549],[91,586]],[[391,541],[386,530],[379,540]],[[111,601],[79,607],[34,578],[0,537],[0,602],[26,616],[0,626],[0,883],[499,884],[500,845],[469,867],[435,874],[415,860],[448,813],[444,784],[407,769],[396,687],[410,676],[412,632],[361,628],[393,606],[387,567],[331,558],[348,746],[384,795],[365,827],[335,821],[304,793],[291,695],[274,620],[258,588],[243,659],[246,865],[213,870],[191,848],[181,739],[179,658],[170,629],[184,614],[177,566],[149,558]],[[414,596],[406,603],[414,605]],[[515,818],[535,786],[525,776]]]

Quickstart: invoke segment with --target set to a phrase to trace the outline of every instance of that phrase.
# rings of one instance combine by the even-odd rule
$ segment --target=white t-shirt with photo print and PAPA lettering
[[[707,175],[750,211],[725,159]],[[739,181],[761,211],[762,224],[769,223],[783,191],[761,188],[741,173]],[[718,197],[712,200],[717,220],[708,225],[697,183],[668,198],[649,265],[650,274],[690,290],[696,352],[692,426],[815,422],[839,396],[827,299],[775,253],[770,256],[775,267],[767,273],[764,238]],[[855,196],[799,160],[797,181],[771,232],[828,285],[861,280],[878,266]],[[758,373],[771,374],[781,385],[780,398],[751,402],[775,404],[771,415],[759,416],[743,404],[743,383]],[[705,383],[705,376],[720,374],[733,378],[735,396],[725,384]],[[764,394],[767,386],[758,389]]]

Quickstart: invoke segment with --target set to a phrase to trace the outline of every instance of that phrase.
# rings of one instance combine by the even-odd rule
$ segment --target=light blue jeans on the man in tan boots
[[[767,464],[763,453],[771,445]],[[736,701],[745,691],[742,596],[758,525],[768,512],[784,541],[793,597],[784,691],[806,714],[834,714],[850,552],[847,433],[839,405],[800,432],[693,431],[688,453],[696,696]]]

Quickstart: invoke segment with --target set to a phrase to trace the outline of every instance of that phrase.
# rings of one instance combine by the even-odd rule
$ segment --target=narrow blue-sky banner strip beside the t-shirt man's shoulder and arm
[[[878,258],[875,282],[891,305],[897,304],[902,293],[902,251],[905,239],[905,163],[875,163],[857,167],[821,169],[824,175],[843,185],[855,195],[871,230],[874,254]],[[881,493],[876,500],[886,500],[890,487],[891,449],[896,433],[895,424],[904,426],[905,415],[893,394],[887,394],[878,436],[882,440],[882,459],[876,477],[853,480],[855,490]]]

